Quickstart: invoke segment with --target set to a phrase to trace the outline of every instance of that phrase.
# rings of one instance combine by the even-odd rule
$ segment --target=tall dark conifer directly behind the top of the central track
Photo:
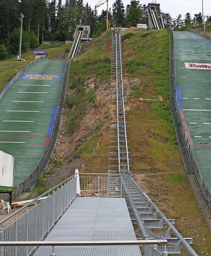
[[[122,0],[113,3],[113,24],[116,26],[125,25],[125,9]]]

